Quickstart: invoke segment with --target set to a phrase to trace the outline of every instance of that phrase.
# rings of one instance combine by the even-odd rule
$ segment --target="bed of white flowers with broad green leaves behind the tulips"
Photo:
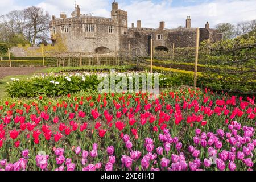
[[[144,72],[130,72],[140,75]],[[36,97],[39,94],[46,96],[61,96],[68,93],[76,93],[81,90],[97,90],[98,75],[107,73],[47,73],[36,75],[28,78],[27,80],[19,80],[13,78],[9,83],[7,94],[10,97]],[[124,73],[116,73],[117,75]],[[128,79],[127,73],[125,73]],[[146,73],[147,75],[147,73]],[[109,77],[110,75],[106,75]],[[109,81],[110,82],[110,81]],[[116,84],[119,81],[115,81]],[[154,85],[154,79],[152,79]],[[181,82],[173,79],[168,75],[159,75],[159,87],[170,88],[171,86],[180,86]]]

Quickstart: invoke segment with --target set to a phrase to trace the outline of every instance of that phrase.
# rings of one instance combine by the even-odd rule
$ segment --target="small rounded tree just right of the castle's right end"
[[[235,26],[230,23],[219,23],[215,26],[218,32],[223,33],[224,40],[232,39],[236,36]]]

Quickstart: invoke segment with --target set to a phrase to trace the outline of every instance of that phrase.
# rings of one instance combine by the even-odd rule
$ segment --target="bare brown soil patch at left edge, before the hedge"
[[[39,72],[45,67],[0,67],[0,79],[9,75],[28,75],[30,73]]]

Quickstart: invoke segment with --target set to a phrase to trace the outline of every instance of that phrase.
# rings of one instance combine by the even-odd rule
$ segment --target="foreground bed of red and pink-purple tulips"
[[[255,170],[255,98],[209,90],[0,101],[1,170]]]

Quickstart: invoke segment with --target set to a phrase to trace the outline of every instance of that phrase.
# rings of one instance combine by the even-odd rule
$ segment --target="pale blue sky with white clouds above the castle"
[[[110,18],[114,0],[76,0],[81,14]],[[166,28],[185,26],[185,19],[191,16],[192,27],[204,27],[208,21],[213,28],[218,23],[232,23],[256,19],[256,0],[117,0],[119,9],[128,12],[129,27],[137,20],[142,27],[158,28],[159,22],[166,22]],[[60,16],[64,11],[68,17],[75,9],[75,0],[0,0],[0,14],[38,6],[50,15]]]

